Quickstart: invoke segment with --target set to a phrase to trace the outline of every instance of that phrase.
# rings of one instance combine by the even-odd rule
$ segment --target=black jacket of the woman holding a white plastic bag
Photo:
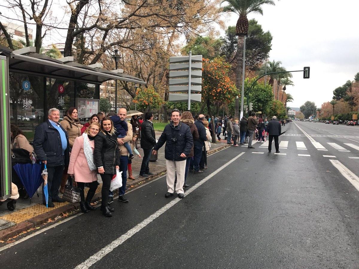
[[[93,159],[96,167],[103,166],[105,174],[116,174],[116,165],[120,165],[121,153],[117,145],[116,135],[106,135],[99,132],[95,136],[95,148],[93,150]]]

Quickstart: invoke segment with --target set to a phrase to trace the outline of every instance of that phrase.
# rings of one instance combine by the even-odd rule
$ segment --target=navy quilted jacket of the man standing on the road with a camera
[[[172,138],[177,138],[177,141],[172,143]],[[164,148],[165,159],[171,161],[186,160],[188,155],[190,155],[191,148],[193,146],[193,138],[190,127],[182,122],[177,125],[177,128],[173,126],[173,122],[167,124],[166,127],[164,127],[163,133],[158,139],[157,144],[154,146],[154,150],[158,150],[162,147],[164,142],[166,142],[166,146]],[[182,153],[184,153],[186,157],[181,157]]]

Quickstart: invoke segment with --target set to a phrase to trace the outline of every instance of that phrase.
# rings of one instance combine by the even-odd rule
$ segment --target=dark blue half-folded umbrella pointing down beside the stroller
[[[41,164],[15,164],[14,170],[18,174],[29,197],[33,197],[42,184]]]

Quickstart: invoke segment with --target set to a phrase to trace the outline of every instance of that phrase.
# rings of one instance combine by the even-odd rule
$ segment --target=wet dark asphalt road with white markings
[[[190,173],[184,199],[160,178],[115,200],[112,218],[82,214],[0,249],[1,268],[359,268],[359,128],[282,129],[279,155],[229,147]]]

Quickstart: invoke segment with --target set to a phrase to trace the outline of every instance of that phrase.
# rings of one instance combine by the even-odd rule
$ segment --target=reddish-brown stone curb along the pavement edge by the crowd
[[[208,155],[211,155],[214,152],[220,151],[223,148],[226,148],[229,146],[230,145],[227,145],[227,144],[219,146],[219,147],[215,148],[214,150],[210,150]],[[127,187],[132,186],[132,187],[130,187],[130,189],[135,189],[135,188],[139,187],[140,185],[142,185],[143,183],[146,183],[148,181],[158,178],[159,176],[166,173],[166,171],[167,171],[167,169],[159,171],[156,174],[154,174],[153,176],[150,176],[149,178],[137,178],[138,179],[137,181],[132,182],[132,184],[128,184]],[[117,193],[118,193],[118,190],[113,191],[114,196],[117,196]],[[92,202],[97,202],[99,200],[101,200],[101,192],[96,193],[94,195]],[[1,230],[0,231],[0,240],[6,241],[10,237],[16,236],[19,233],[22,233],[31,228],[34,228],[35,226],[40,226],[40,225],[46,224],[49,218],[55,219],[57,216],[60,216],[62,213],[65,214],[65,213],[73,212],[75,210],[77,211],[78,209],[80,209],[80,205],[78,203],[66,204],[62,207],[59,207],[59,208],[53,209],[49,212],[40,214],[36,217],[30,218],[27,221],[20,222],[17,225],[14,225],[12,227]],[[78,213],[78,212],[75,212],[74,214],[76,214],[76,213]]]

